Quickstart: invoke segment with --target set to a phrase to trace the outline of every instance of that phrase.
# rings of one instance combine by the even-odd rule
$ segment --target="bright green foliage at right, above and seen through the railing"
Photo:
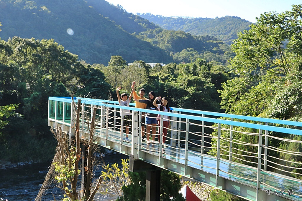
[[[221,108],[226,112],[238,115],[259,116],[283,120],[302,121],[301,116],[301,49],[302,40],[300,29],[302,5],[293,5],[291,11],[283,13],[268,12],[257,18],[257,23],[252,24],[249,31],[239,33],[239,38],[232,45],[236,56],[230,60],[230,68],[237,77],[222,84],[219,90]],[[299,30],[299,31],[298,31]],[[246,121],[249,122],[249,121]],[[253,122],[252,122],[253,123]],[[223,126],[223,125],[222,125]],[[253,129],[234,127],[243,132],[257,133]],[[216,132],[213,133],[217,135]],[[300,140],[295,135],[282,133],[269,133],[282,136],[286,139]],[[230,137],[229,133],[222,131],[222,137]],[[245,134],[233,134],[234,140],[257,144],[257,137]],[[284,153],[274,152],[276,159],[271,159],[275,164],[301,167],[299,157],[290,156],[288,151],[300,152],[299,142],[286,142],[270,140],[269,144],[284,150]],[[216,147],[217,140],[212,141]],[[226,146],[228,146],[226,144]],[[257,153],[255,147],[238,145],[235,151],[239,159],[255,162],[242,154],[241,150]],[[227,154],[226,152],[224,152]],[[215,150],[212,150],[215,155]],[[280,159],[280,160],[279,160]],[[285,161],[284,161],[285,160]],[[239,161],[237,161],[239,162]],[[273,164],[273,165],[275,165]],[[280,166],[288,172],[293,169]],[[279,168],[280,168],[279,167]],[[274,171],[272,169],[272,171]],[[295,169],[294,172],[299,172]],[[300,173],[300,172],[299,172]],[[282,174],[287,174],[282,172]],[[290,175],[290,174],[289,174]],[[297,174],[294,175],[295,177]]]

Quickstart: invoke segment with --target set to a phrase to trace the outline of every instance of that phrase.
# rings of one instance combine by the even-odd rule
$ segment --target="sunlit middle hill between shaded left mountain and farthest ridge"
[[[225,65],[235,55],[230,46],[218,41],[214,36],[193,36],[183,31],[157,28],[137,35],[139,39],[150,42],[173,56],[175,62],[192,62],[204,58],[207,62]]]

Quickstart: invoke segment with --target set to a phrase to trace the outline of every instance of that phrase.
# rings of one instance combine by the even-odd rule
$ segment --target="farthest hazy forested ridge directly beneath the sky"
[[[218,40],[231,44],[237,39],[237,33],[249,30],[251,22],[240,17],[225,16],[212,18],[182,18],[182,17],[163,17],[150,13],[139,14],[141,17],[159,25],[163,29],[182,30],[197,36],[215,36]]]

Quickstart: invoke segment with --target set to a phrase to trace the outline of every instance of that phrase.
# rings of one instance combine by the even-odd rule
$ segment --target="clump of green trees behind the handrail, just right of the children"
[[[203,59],[189,64],[168,64],[161,71],[151,74],[152,84],[146,83],[143,87],[146,91],[153,90],[159,95],[166,94],[171,101],[169,105],[172,106],[219,111],[218,83],[228,79],[225,69],[221,70],[223,69],[218,70]]]

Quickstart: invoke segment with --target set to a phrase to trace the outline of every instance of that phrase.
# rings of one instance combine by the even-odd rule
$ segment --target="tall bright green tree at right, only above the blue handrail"
[[[280,119],[300,116],[296,83],[302,71],[301,9],[302,5],[293,5],[292,11],[261,14],[249,31],[238,34],[230,68],[240,77],[223,84],[224,90],[219,91],[223,109]],[[292,87],[296,90],[290,91]],[[285,89],[287,101],[280,96]],[[281,110],[291,111],[276,112]]]

